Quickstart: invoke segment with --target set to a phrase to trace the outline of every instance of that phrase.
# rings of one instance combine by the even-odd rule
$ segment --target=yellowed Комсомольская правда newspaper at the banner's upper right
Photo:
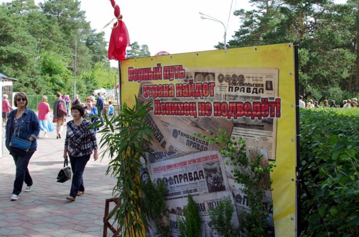
[[[187,78],[194,81],[214,81],[215,93],[210,100],[261,101],[278,97],[278,69],[266,68],[189,68]],[[251,155],[260,152],[269,160],[275,160],[276,120],[268,116],[262,119],[241,117],[231,119],[232,136],[246,141]]]

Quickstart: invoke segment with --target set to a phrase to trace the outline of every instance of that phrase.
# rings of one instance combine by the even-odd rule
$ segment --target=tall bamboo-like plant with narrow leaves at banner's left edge
[[[106,175],[117,180],[113,187],[113,196],[121,200],[109,215],[114,216],[122,236],[144,236],[144,226],[147,224],[144,212],[144,202],[141,199],[139,184],[139,169],[142,167],[140,157],[146,158],[145,152],[151,142],[153,133],[145,118],[148,115],[149,104],[139,102],[135,98],[133,107],[123,104],[118,116],[108,119],[104,115],[105,127],[99,146],[103,149],[102,159],[109,158]],[[98,120],[94,126],[100,127]]]

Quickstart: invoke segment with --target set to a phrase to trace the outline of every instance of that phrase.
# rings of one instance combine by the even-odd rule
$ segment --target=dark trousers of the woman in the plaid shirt
[[[70,196],[76,198],[78,191],[85,191],[84,181],[82,175],[84,174],[86,163],[90,160],[90,155],[87,156],[69,156],[71,169],[72,169],[72,184],[70,190]]]

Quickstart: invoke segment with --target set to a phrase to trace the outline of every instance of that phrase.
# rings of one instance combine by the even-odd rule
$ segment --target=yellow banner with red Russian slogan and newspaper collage
[[[221,144],[206,139],[225,131],[246,141],[249,159],[276,167],[264,203],[267,223],[275,236],[295,236],[295,63],[293,44],[214,50],[128,59],[121,62],[121,98],[129,106],[135,96],[150,102],[146,122],[153,131],[147,165],[141,179],[163,180],[170,228],[178,236],[176,217],[190,194],[197,203],[202,236],[216,236],[208,208],[230,197],[232,224],[250,213],[243,185],[218,151]],[[241,167],[239,167],[241,169]],[[150,231],[155,236],[155,231]]]

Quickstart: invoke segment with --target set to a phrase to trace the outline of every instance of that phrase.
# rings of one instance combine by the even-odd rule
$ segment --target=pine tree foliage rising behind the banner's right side
[[[295,42],[301,93],[311,90],[328,98],[331,91],[359,92],[359,1],[249,2],[252,10],[234,11],[242,24],[228,48]]]

